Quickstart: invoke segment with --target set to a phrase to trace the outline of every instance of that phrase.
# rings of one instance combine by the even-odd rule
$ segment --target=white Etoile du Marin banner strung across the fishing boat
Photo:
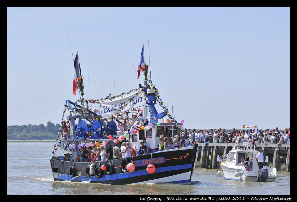
[[[120,113],[127,112],[133,108],[140,108],[145,105],[145,94],[142,91],[125,95],[121,98],[108,100],[100,103],[101,116],[107,118]]]

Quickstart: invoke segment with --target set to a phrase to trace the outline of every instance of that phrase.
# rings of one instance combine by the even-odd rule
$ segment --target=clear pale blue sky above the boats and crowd
[[[77,51],[85,99],[137,88],[142,44],[185,127],[291,125],[290,7],[6,7],[6,125],[61,122]]]

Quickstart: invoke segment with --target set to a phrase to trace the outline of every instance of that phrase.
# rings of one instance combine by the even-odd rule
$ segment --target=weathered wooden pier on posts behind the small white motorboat
[[[219,169],[218,156],[228,154],[234,146],[235,144],[209,143],[206,147],[204,143],[199,143],[196,168]],[[236,147],[244,149],[243,144],[237,144]],[[277,147],[278,144],[256,144],[255,149],[263,149],[265,166],[291,172],[291,144],[282,144],[279,150],[275,150]],[[266,156],[268,156],[268,162],[265,162]]]

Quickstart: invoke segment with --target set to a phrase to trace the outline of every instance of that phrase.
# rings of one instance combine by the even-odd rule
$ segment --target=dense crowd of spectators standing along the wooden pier
[[[291,128],[285,128],[285,130],[278,130],[278,127],[275,129],[265,129],[258,131],[249,129],[249,130],[236,130],[233,128],[232,132],[226,132],[225,129],[184,129],[182,131],[182,138],[195,140],[196,143],[243,143],[249,142],[253,145],[255,143],[264,143],[264,144],[278,144],[278,148],[281,144],[291,142]]]

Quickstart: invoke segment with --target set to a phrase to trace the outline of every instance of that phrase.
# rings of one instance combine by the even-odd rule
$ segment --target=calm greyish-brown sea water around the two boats
[[[218,169],[195,169],[192,182],[108,185],[54,181],[49,159],[54,143],[6,143],[6,195],[269,196],[291,195],[291,172],[275,182],[225,180]],[[58,149],[56,155],[62,155]],[[166,202],[166,198],[164,199]]]

